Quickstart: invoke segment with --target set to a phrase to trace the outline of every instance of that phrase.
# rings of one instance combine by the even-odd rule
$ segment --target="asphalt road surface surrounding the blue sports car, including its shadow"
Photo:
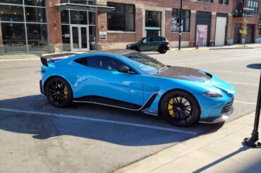
[[[236,86],[232,121],[255,111],[261,49],[148,53],[200,68]],[[111,172],[222,124],[182,129],[147,114],[78,104],[51,107],[40,95],[40,60],[0,61],[0,172]]]

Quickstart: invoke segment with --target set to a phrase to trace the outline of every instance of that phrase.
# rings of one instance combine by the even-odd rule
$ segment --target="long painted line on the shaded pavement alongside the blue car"
[[[35,112],[35,111],[25,111],[25,110],[18,110],[18,109],[7,109],[7,108],[0,108],[1,111],[6,112],[18,112],[18,113],[25,113],[25,114],[38,114],[38,115],[46,115],[49,117],[63,117],[63,118],[69,118],[69,119],[83,119],[87,121],[98,121],[103,123],[110,123],[110,124],[121,124],[121,125],[127,125],[127,126],[136,126],[136,127],[142,127],[147,129],[157,129],[162,131],[171,131],[171,132],[178,132],[178,133],[187,133],[191,135],[197,135],[197,132],[194,131],[183,131],[178,129],[171,129],[171,128],[165,128],[165,127],[159,127],[159,126],[150,126],[145,124],[135,124],[135,123],[128,123],[124,121],[112,121],[107,119],[95,119],[95,118],[88,118],[88,117],[79,117],[79,116],[72,116],[72,115],[66,115],[66,114],[54,114],[54,113],[48,113],[48,112]]]

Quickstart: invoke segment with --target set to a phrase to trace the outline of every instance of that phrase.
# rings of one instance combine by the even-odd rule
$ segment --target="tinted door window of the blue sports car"
[[[123,66],[123,62],[109,56],[90,56],[87,58],[88,66],[104,70],[116,71],[119,66]]]

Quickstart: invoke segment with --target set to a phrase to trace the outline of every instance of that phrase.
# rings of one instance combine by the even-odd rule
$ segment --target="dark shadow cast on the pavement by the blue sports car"
[[[1,130],[27,133],[40,140],[67,135],[129,146],[176,143],[212,133],[223,126],[223,124],[195,124],[188,128],[178,128],[170,126],[161,117],[92,104],[75,104],[70,108],[59,109],[52,107],[43,95],[0,100],[0,114]],[[59,117],[57,116],[59,114],[66,116]],[[121,121],[127,124],[90,119]],[[131,124],[192,131],[197,134],[164,131]]]

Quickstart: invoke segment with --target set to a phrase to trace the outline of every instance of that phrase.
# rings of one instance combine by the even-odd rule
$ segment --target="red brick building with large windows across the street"
[[[162,35],[171,47],[261,42],[261,0],[0,0],[0,54],[125,48]],[[239,30],[247,30],[241,35]]]

